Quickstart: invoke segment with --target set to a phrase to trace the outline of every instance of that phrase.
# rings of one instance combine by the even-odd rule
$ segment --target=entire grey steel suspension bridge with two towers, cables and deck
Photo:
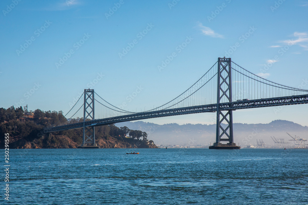
[[[83,128],[85,147],[97,147],[95,127],[156,117],[217,112],[216,142],[210,149],[240,149],[233,142],[232,111],[246,108],[306,104],[308,90],[262,78],[231,58],[218,61],[191,87],[167,103],[144,112],[130,112],[85,89],[71,110],[44,133]],[[82,109],[83,108],[83,109]],[[227,142],[222,143],[222,142]]]

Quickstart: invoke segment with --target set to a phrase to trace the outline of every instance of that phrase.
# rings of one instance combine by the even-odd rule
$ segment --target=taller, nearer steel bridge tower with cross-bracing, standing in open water
[[[216,142],[209,149],[240,149],[233,142],[232,110],[220,110],[221,101],[232,102],[231,58],[218,58],[217,77]],[[222,141],[228,143],[222,144]]]

